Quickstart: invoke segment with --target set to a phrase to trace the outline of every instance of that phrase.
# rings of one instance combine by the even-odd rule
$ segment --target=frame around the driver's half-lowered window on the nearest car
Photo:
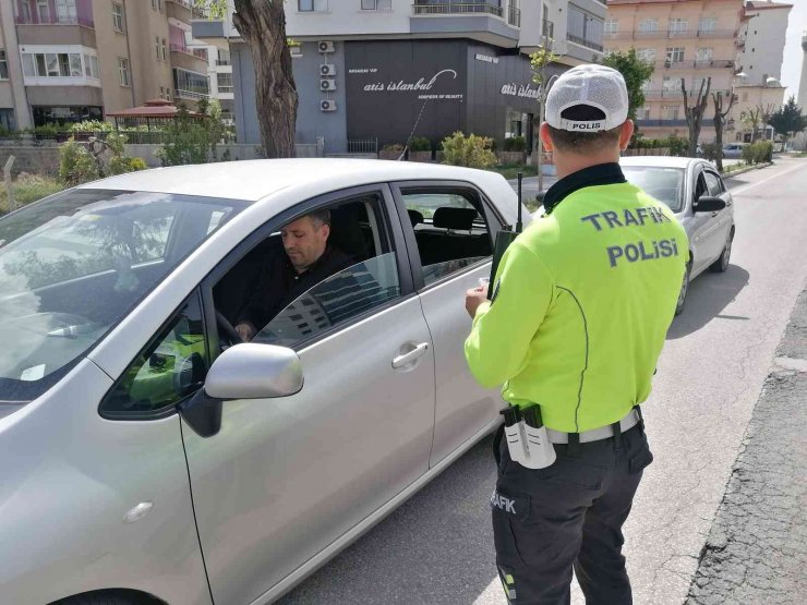
[[[381,220],[386,220],[387,228],[389,229],[390,245],[394,247],[392,251],[395,254],[396,266],[398,267],[398,279],[400,282],[400,294],[397,298],[390,299],[378,306],[369,308],[368,311],[350,317],[336,326],[330,326],[327,329],[317,331],[311,337],[298,342],[293,350],[298,353],[304,349],[315,344],[316,342],[329,338],[330,336],[348,329],[350,326],[358,324],[376,315],[382,311],[392,308],[398,304],[404,303],[408,299],[417,295],[413,278],[411,273],[411,266],[408,258],[407,244],[401,228],[400,218],[396,211],[395,199],[389,184],[386,182],[371,183],[360,186],[347,187],[338,191],[333,191],[323,195],[317,195],[308,199],[298,202],[293,206],[285,208],[280,213],[276,214],[269,220],[261,225],[246,238],[244,238],[238,245],[232,247],[227,255],[219,261],[218,265],[202,280],[202,303],[204,322],[208,334],[210,335],[208,347],[210,355],[210,364],[216,361],[218,355],[221,353],[221,342],[218,337],[218,326],[216,323],[216,307],[213,299],[213,288],[216,283],[232,269],[246,254],[255,249],[262,241],[280,230],[284,225],[288,225],[292,220],[305,216],[306,214],[322,207],[334,206],[340,202],[350,202],[351,198],[360,197],[371,193],[378,193],[382,197],[381,213],[383,216],[378,217]],[[262,202],[256,202],[261,204]],[[262,326],[265,327],[265,326]]]

